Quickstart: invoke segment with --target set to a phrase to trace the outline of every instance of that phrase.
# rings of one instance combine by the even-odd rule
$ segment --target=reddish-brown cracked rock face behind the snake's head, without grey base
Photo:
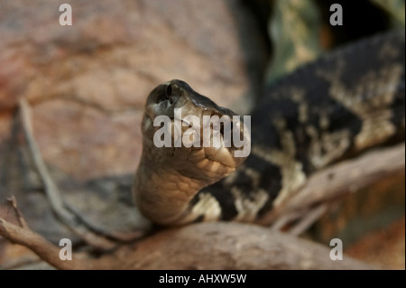
[[[144,100],[163,81],[184,79],[226,107],[250,93],[236,1],[69,4],[71,26],[59,3],[2,4],[0,111],[28,98],[45,161],[75,179],[134,172]]]

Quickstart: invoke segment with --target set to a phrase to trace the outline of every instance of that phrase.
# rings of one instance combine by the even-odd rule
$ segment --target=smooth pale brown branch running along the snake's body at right
[[[319,203],[335,200],[346,194],[393,176],[404,174],[405,144],[381,148],[337,163],[315,173],[306,185],[290,199],[273,209],[261,224],[281,227],[301,218]]]

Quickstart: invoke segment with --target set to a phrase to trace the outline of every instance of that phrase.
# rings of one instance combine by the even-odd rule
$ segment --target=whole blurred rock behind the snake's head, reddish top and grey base
[[[142,222],[130,190],[148,93],[184,79],[221,106],[247,108],[247,67],[265,63],[253,16],[237,0],[66,3],[71,26],[60,25],[59,2],[0,8],[0,201],[14,195],[29,226],[54,243],[80,240],[55,218],[32,169],[20,98],[32,107],[34,137],[64,200],[102,228],[132,231]],[[21,255],[1,242],[0,265],[14,266]]]

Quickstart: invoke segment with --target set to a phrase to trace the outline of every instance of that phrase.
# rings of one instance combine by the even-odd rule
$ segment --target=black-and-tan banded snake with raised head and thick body
[[[134,176],[134,201],[146,218],[162,226],[198,221],[255,222],[286,200],[323,168],[375,146],[404,141],[405,34],[374,35],[330,51],[277,80],[249,114],[236,114],[173,79],[149,94],[143,114],[143,152]],[[176,116],[180,108],[181,119]],[[154,136],[166,116],[202,144],[202,127],[186,121],[226,116],[246,136],[250,153],[227,143],[158,147]],[[212,129],[215,125],[210,126]],[[178,126],[179,128],[179,126]],[[218,128],[218,126],[217,126]],[[194,130],[193,130],[194,129]],[[238,132],[239,131],[239,132]],[[198,138],[200,137],[200,138]]]

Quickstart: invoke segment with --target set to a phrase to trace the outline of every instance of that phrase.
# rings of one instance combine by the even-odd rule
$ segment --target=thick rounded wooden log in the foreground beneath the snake
[[[371,269],[308,240],[242,223],[200,223],[137,245],[130,269]]]

